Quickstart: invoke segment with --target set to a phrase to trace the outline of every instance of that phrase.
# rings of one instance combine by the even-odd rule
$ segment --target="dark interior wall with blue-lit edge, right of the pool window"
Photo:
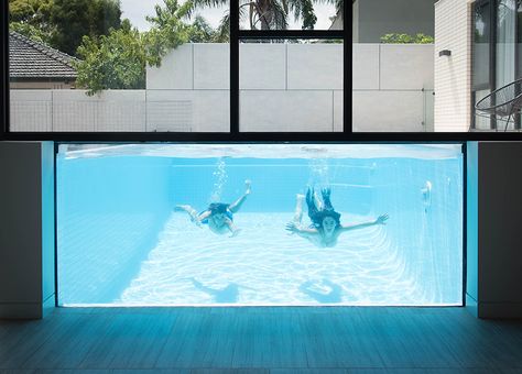
[[[522,318],[522,143],[468,151],[467,304],[481,318]]]

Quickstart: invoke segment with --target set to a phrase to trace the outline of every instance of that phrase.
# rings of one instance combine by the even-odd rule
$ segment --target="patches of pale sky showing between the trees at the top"
[[[131,21],[132,25],[138,28],[140,31],[149,30],[149,23],[145,21],[145,15],[154,14],[154,6],[162,3],[162,0],[120,0],[121,10],[123,12],[122,18],[127,18]],[[335,15],[335,8],[328,4],[316,4],[314,6],[315,13],[317,15],[316,30],[328,30],[331,24],[329,16]],[[218,8],[206,8],[198,12],[203,15],[213,28],[219,24],[225,9]],[[290,29],[301,29],[298,24],[291,20]]]

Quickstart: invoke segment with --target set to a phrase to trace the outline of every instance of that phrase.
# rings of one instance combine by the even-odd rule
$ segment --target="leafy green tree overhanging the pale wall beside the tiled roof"
[[[87,95],[105,89],[144,88],[146,65],[160,66],[162,58],[181,44],[215,37],[216,32],[205,20],[184,22],[189,7],[164,0],[163,7],[155,7],[155,15],[146,18],[151,23],[148,32],[140,33],[124,20],[108,35],[84,36],[78,47],[81,61],[76,63],[77,85],[87,88]]]

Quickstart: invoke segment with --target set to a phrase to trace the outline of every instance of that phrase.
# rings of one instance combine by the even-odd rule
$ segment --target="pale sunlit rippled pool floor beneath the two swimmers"
[[[244,213],[240,237],[216,237],[173,213],[117,304],[431,304],[383,227],[317,249],[282,228],[284,213]],[[361,218],[354,217],[354,220]]]

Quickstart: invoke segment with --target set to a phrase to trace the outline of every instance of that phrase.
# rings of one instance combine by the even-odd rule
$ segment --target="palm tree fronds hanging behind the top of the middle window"
[[[354,0],[352,0],[354,1]],[[230,0],[192,0],[193,9],[225,7]],[[239,0],[239,18],[248,20],[250,30],[285,30],[289,15],[303,20],[303,30],[313,30],[317,18],[314,3],[330,3],[342,12],[344,0]],[[228,12],[221,19],[220,30],[230,28]]]

